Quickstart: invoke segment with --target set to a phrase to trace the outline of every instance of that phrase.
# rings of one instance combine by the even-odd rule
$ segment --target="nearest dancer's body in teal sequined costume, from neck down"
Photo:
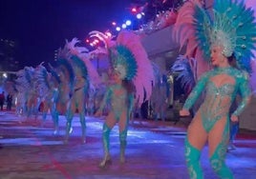
[[[248,104],[250,98],[248,76],[245,72],[231,67],[216,68],[206,72],[188,96],[183,109],[191,109],[204,89],[203,104],[191,122],[185,139],[185,157],[189,175],[191,178],[203,178],[200,155],[201,149],[208,140],[212,168],[221,178],[233,178],[232,172],[224,163],[229,139],[228,111],[239,91],[243,100],[233,115],[240,115]]]

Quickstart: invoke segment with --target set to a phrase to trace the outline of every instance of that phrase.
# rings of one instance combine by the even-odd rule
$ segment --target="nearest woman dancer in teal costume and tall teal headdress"
[[[202,8],[196,7],[195,12],[196,39],[206,59],[211,57],[213,70],[203,74],[180,111],[181,116],[188,115],[203,89],[206,90],[203,104],[187,129],[187,168],[190,178],[203,178],[200,155],[208,141],[212,168],[220,178],[233,178],[224,162],[229,141],[229,109],[240,91],[242,102],[230,117],[236,122],[250,100],[247,71],[255,43],[253,12],[244,3],[232,0],[215,1],[213,21]],[[233,56],[238,69],[231,65]]]

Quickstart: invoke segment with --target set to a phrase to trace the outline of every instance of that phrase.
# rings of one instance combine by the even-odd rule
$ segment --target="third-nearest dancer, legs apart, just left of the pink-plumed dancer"
[[[78,42],[74,38],[71,42],[67,41],[65,46],[65,49],[68,51],[69,62],[75,74],[74,88],[72,89],[68,106],[65,143],[69,141],[72,120],[76,109],[81,123],[82,143],[86,143],[85,97],[88,95],[90,88],[96,87],[100,83],[99,75],[89,60],[90,54],[88,50],[75,46]]]

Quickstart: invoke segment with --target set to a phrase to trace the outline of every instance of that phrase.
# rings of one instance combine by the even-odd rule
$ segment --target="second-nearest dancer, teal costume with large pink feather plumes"
[[[129,118],[133,109],[134,100],[139,105],[148,100],[152,93],[154,72],[139,36],[131,31],[121,31],[117,41],[108,41],[109,37],[99,32],[91,35],[103,40],[108,50],[111,62],[111,78],[96,116],[101,115],[107,102],[110,109],[103,125],[104,157],[99,167],[104,168],[111,164],[109,136],[111,130],[118,123],[120,142],[120,162],[125,162],[126,137]]]

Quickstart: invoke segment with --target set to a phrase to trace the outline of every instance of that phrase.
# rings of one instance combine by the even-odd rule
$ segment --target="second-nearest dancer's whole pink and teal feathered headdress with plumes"
[[[98,31],[92,31],[90,35],[103,41],[113,70],[117,70],[122,79],[133,81],[139,104],[142,104],[144,99],[148,100],[155,78],[152,64],[141,45],[139,36],[127,30],[120,31],[116,41]]]

